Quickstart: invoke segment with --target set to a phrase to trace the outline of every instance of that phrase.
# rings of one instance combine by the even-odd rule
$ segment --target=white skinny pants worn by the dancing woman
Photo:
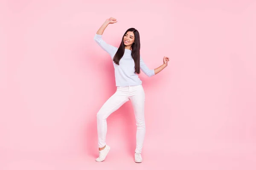
[[[137,134],[135,152],[141,153],[145,137],[144,104],[145,94],[142,85],[117,87],[113,94],[97,113],[97,131],[99,147],[104,147],[107,135],[107,118],[125,102],[131,100],[134,108]]]

